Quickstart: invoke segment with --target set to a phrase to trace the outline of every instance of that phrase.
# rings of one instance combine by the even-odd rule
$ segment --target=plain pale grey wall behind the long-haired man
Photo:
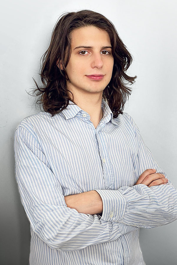
[[[26,92],[38,80],[39,61],[52,29],[64,12],[91,9],[115,25],[134,57],[128,73],[137,75],[125,105],[154,158],[175,187],[177,158],[176,1],[3,1],[1,3],[1,265],[26,265],[30,225],[14,177],[14,130],[38,110]],[[140,229],[147,265],[177,264],[177,220]],[[51,264],[52,265],[52,264]]]

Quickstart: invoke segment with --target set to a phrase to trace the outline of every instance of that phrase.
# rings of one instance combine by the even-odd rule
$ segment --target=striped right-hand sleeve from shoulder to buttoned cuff
[[[136,123],[130,115],[128,116],[135,128],[139,147],[134,165],[136,182],[140,175],[150,168],[155,168],[155,173],[162,173],[165,178],[168,178],[153,158],[153,154],[142,139]],[[143,228],[155,228],[177,219],[177,189],[169,178],[166,185],[148,187],[145,184],[137,184],[132,187],[122,186],[118,190],[94,190],[99,193],[103,201],[101,220]]]

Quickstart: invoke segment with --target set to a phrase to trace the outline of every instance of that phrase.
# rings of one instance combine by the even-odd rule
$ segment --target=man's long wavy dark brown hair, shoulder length
[[[124,104],[131,95],[130,86],[137,76],[130,77],[126,71],[132,63],[132,56],[112,22],[102,14],[91,10],[67,12],[58,18],[50,45],[40,59],[39,74],[42,85],[37,85],[32,77],[36,86],[32,94],[32,96],[37,96],[35,104],[40,105],[40,110],[49,112],[52,117],[65,109],[69,100],[76,104],[69,97],[68,91],[70,90],[66,88],[66,80],[70,82],[66,67],[71,56],[71,32],[87,26],[104,30],[110,37],[114,66],[111,80],[103,90],[102,98],[108,103],[114,118],[123,113]],[[62,69],[60,63],[57,66],[57,62],[61,62]],[[71,94],[73,95],[72,92]]]

